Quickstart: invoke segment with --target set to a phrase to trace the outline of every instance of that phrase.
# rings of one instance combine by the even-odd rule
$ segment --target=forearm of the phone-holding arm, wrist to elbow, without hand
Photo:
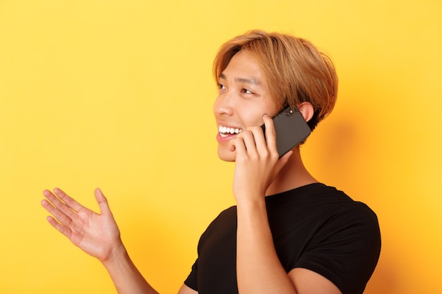
[[[273,245],[265,201],[238,205],[237,279],[240,294],[297,293]]]

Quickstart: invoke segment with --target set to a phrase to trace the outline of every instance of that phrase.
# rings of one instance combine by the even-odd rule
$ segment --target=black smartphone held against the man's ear
[[[283,109],[273,117],[273,124],[276,131],[277,153],[280,154],[280,157],[304,141],[311,133],[309,125],[304,121],[296,106],[294,108],[288,106]],[[261,128],[265,134],[265,125],[261,125]]]

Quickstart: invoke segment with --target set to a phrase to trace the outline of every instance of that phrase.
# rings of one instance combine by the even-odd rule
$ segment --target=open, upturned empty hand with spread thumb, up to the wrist
[[[117,223],[100,190],[95,191],[95,197],[101,214],[83,207],[59,189],[54,193],[44,191],[47,200],[43,200],[42,205],[54,216],[49,216],[48,221],[74,245],[101,261],[122,245]]]

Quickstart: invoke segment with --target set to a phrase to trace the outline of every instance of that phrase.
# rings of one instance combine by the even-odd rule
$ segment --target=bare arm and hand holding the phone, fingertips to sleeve
[[[282,267],[268,223],[265,192],[292,151],[279,159],[275,128],[264,116],[262,129],[249,128],[232,139],[237,152],[233,191],[237,201],[237,281],[240,294],[340,294],[323,276],[304,269],[289,274]]]

